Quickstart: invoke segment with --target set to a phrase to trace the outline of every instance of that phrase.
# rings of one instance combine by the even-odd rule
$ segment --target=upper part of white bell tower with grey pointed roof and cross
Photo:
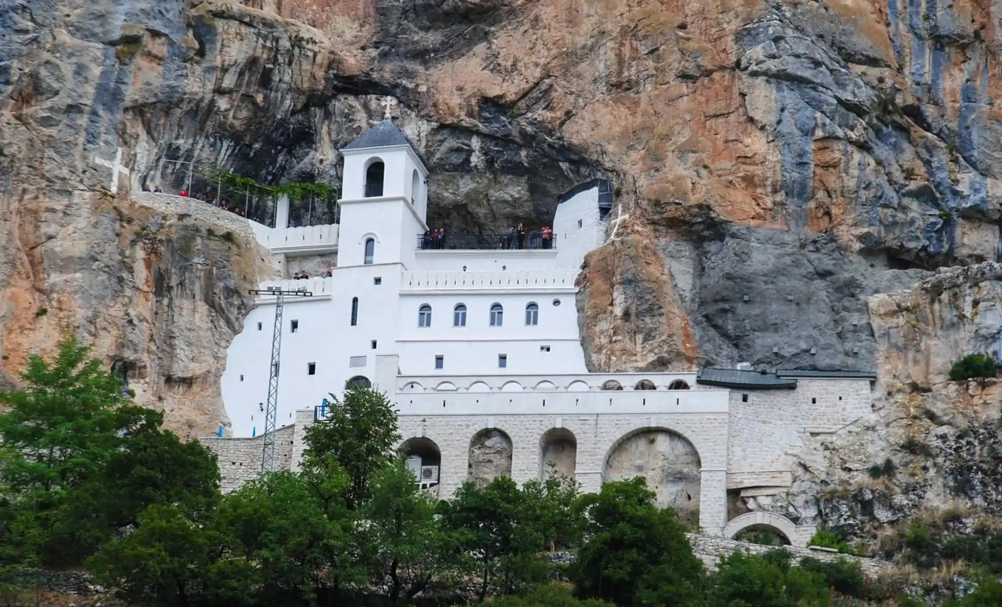
[[[410,139],[386,117],[341,149],[338,265],[411,265],[428,229],[428,169]]]

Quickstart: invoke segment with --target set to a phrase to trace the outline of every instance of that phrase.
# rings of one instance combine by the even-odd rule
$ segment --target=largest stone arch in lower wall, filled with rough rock
[[[657,505],[672,507],[695,525],[699,514],[702,463],[695,445],[681,433],[663,427],[633,430],[612,444],[603,460],[602,479],[644,477]]]

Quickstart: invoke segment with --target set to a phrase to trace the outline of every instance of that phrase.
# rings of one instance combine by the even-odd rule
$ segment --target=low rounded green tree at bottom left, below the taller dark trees
[[[131,604],[185,607],[203,590],[219,543],[180,508],[155,505],[134,532],[90,557],[87,568]]]

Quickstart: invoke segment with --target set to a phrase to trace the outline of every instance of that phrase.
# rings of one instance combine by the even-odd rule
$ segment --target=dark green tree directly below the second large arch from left
[[[546,575],[547,564],[539,555],[543,537],[526,524],[526,504],[525,494],[508,477],[483,487],[468,481],[451,502],[440,504],[445,529],[476,559],[471,569],[480,579],[481,601],[492,583],[502,594],[510,594]]]

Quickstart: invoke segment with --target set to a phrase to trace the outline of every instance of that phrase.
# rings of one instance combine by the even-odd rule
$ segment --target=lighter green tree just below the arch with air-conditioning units
[[[386,588],[393,601],[410,601],[450,572],[459,546],[435,519],[437,500],[419,488],[404,462],[376,473],[371,494],[362,512],[372,585]]]

